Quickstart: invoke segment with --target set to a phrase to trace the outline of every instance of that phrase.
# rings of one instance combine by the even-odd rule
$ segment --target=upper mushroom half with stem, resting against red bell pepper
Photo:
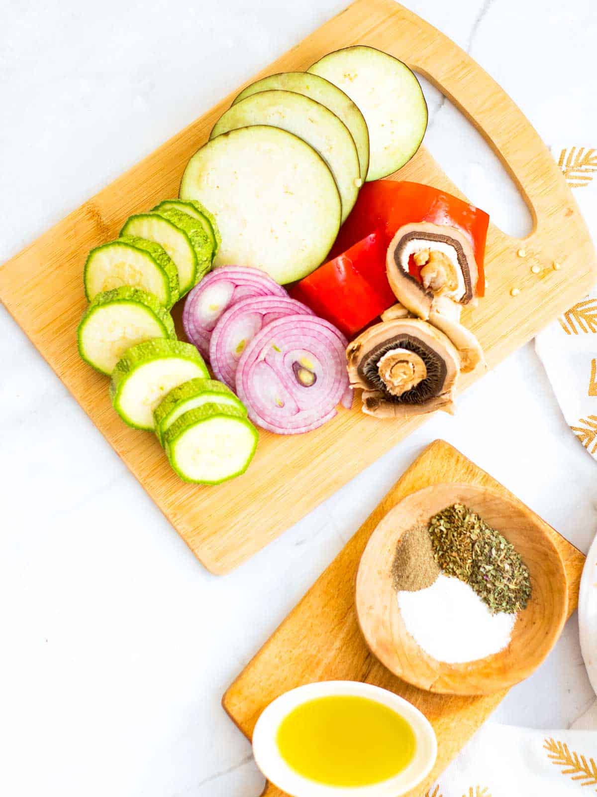
[[[473,247],[455,227],[431,222],[400,227],[388,247],[386,270],[396,299],[423,320],[439,296],[458,304],[477,300]]]

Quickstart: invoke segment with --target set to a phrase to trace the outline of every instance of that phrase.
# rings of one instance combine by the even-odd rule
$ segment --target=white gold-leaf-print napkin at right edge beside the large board
[[[597,241],[597,149],[562,145],[552,154]],[[568,426],[597,458],[597,290],[540,332],[535,347]]]

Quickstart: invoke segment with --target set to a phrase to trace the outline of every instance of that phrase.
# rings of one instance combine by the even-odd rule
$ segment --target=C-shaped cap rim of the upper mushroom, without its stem
[[[462,275],[462,289],[457,300],[471,304],[477,298],[478,268],[470,239],[462,230],[431,222],[412,222],[401,226],[388,246],[386,273],[396,299],[413,315],[427,320],[436,296],[408,272],[407,249],[409,241],[424,240],[422,248],[433,249],[434,243],[454,249]]]

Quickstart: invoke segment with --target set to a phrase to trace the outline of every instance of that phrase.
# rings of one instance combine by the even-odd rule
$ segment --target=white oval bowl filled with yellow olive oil
[[[359,681],[321,681],[267,706],[253,752],[291,797],[400,797],[430,773],[437,741],[402,697]]]

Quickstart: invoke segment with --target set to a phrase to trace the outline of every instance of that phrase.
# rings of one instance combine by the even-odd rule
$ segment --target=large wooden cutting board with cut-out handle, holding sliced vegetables
[[[539,135],[509,96],[462,49],[392,0],[357,0],[256,78],[306,69],[330,50],[356,43],[401,58],[450,97],[500,155],[532,210],[535,229],[525,241],[524,259],[517,257],[520,241],[490,226],[490,287],[478,309],[465,315],[494,367],[582,298],[595,281],[595,252],[576,202]],[[85,308],[82,272],[88,250],[115,238],[129,215],[178,194],[186,163],[236,93],[0,270],[3,304],[213,573],[248,559],[424,420],[380,421],[361,414],[355,402],[355,409],[342,410],[310,434],[260,434],[248,473],[226,485],[201,488],[178,479],[152,434],[120,421],[108,398],[107,380],[80,361],[75,332]],[[462,196],[424,149],[395,176]],[[553,261],[563,268],[554,271]],[[533,263],[540,265],[538,275],[529,270]],[[509,295],[513,286],[521,289],[515,299]],[[462,379],[462,387],[480,375]]]

